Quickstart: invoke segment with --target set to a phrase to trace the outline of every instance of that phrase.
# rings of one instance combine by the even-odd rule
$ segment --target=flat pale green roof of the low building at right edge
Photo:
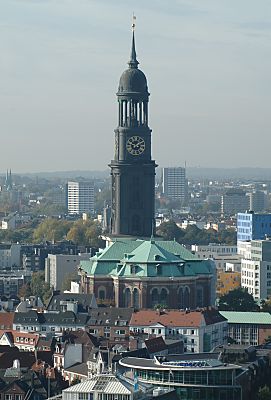
[[[229,324],[271,325],[271,315],[262,312],[219,311]]]

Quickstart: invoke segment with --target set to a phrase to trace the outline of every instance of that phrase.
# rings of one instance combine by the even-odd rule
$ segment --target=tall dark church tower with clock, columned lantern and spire
[[[146,76],[138,69],[133,24],[128,69],[117,92],[118,127],[111,161],[111,234],[150,237],[154,233],[155,161],[151,157],[148,126],[149,92]]]

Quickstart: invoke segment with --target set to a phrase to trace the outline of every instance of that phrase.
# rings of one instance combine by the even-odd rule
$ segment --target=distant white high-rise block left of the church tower
[[[93,182],[70,181],[67,192],[69,214],[94,213]]]

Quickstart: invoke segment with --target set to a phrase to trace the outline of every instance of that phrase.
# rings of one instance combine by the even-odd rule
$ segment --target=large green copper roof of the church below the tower
[[[178,278],[211,274],[210,261],[199,260],[175,241],[116,240],[81,268],[88,275]]]

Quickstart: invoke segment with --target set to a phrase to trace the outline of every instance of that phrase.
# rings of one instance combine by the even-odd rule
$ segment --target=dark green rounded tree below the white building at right
[[[253,296],[245,289],[237,288],[224,294],[219,299],[220,311],[258,311],[259,306]]]

